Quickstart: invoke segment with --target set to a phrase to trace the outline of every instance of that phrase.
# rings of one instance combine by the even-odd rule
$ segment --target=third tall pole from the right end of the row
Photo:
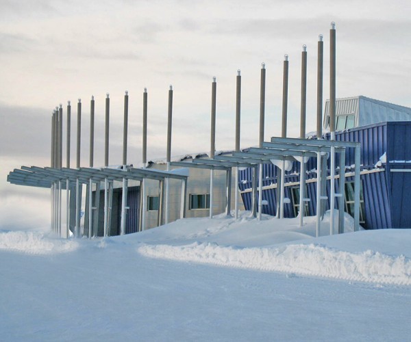
[[[306,139],[306,108],[307,108],[307,46],[303,45],[301,52],[301,119],[300,138]],[[299,224],[304,223],[304,209],[306,207],[306,160],[301,156],[300,161],[300,198],[299,198]]]

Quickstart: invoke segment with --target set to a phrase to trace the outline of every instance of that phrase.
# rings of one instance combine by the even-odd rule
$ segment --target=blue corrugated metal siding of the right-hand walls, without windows
[[[329,139],[329,134],[325,135]],[[382,122],[367,127],[357,127],[347,131],[336,133],[336,140],[361,143],[362,170],[373,170],[375,163],[386,153],[387,165],[383,166],[386,171],[362,174],[361,182],[364,192],[364,218],[365,227],[369,229],[380,228],[406,228],[411,226],[411,172],[390,172],[390,168],[411,168],[410,163],[389,163],[389,161],[411,161],[411,122]],[[353,166],[355,160],[353,148],[346,151],[346,166]],[[329,169],[329,160],[328,169]],[[337,155],[336,166],[339,166]],[[316,178],[316,158],[310,158],[307,163],[307,179]],[[347,170],[348,172],[349,170]],[[240,189],[251,188],[250,169],[240,172],[240,179],[247,179],[247,184],[239,185]],[[329,171],[328,171],[329,175]],[[266,176],[269,178],[266,179]],[[264,166],[264,185],[277,183],[277,168],[275,166]],[[353,181],[349,177],[346,181]],[[292,170],[286,173],[286,183],[299,182],[299,163],[295,161]],[[327,181],[327,196],[330,194],[330,183]],[[336,181],[336,192],[338,181]],[[316,182],[307,184],[307,194],[310,198],[308,203],[309,215],[316,213]],[[286,196],[291,198],[290,189],[286,187]],[[242,194],[245,208],[251,209],[251,193]],[[269,200],[269,205],[264,207],[264,213],[275,215],[276,190],[267,189],[263,192],[263,199]],[[335,207],[338,208],[336,202]],[[327,203],[327,209],[329,204]],[[286,217],[292,217],[292,205],[284,208]]]

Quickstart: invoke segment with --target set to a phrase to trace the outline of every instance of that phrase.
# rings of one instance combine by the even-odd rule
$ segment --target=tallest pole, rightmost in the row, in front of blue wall
[[[331,140],[336,140],[336,24],[331,23],[329,30],[329,132]],[[329,200],[329,235],[334,234],[334,202],[335,202],[335,159],[334,146],[331,147],[331,191]]]

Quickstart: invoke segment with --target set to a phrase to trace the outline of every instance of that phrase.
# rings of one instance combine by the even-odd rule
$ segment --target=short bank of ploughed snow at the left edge
[[[36,231],[0,232],[0,250],[12,250],[27,254],[55,254],[71,252],[78,247],[76,241],[53,239]]]

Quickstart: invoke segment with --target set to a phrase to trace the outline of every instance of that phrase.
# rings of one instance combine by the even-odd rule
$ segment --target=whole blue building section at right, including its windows
[[[329,140],[329,134],[323,136]],[[336,132],[336,140],[360,142],[361,187],[360,224],[366,229],[411,228],[411,122],[381,122]],[[353,171],[355,153],[347,148],[345,153],[345,189],[336,193],[345,196],[345,208],[353,212]],[[316,215],[316,158],[311,157],[306,166],[306,215]],[[340,174],[339,157],[336,158],[336,174]],[[327,175],[329,176],[329,159]],[[262,199],[263,213],[276,215],[278,168],[263,166]],[[251,210],[252,170],[240,171],[239,188],[245,208]],[[327,180],[326,192],[330,194]],[[285,197],[290,199],[284,207],[286,218],[295,217],[299,211],[299,162],[292,163],[292,169],[285,174]],[[327,201],[325,201],[327,202]],[[338,202],[335,203],[338,208]],[[329,203],[326,205],[329,209]]]

